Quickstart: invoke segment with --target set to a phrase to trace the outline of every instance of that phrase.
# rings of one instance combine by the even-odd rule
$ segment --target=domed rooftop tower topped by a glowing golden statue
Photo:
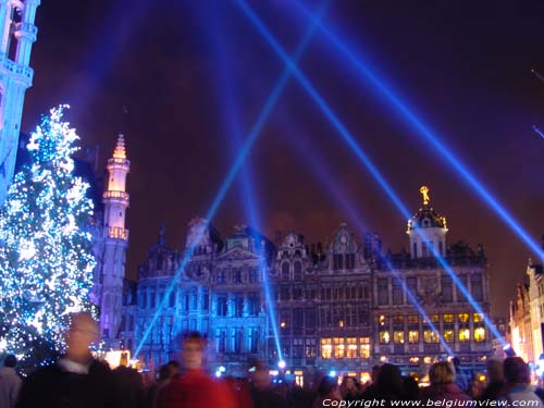
[[[411,259],[446,255],[446,218],[438,214],[429,202],[429,187],[422,186],[423,207],[408,220],[406,233],[410,237]]]

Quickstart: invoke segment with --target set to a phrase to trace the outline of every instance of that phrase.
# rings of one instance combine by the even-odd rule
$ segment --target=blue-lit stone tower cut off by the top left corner
[[[25,90],[34,76],[28,63],[39,3],[0,0],[0,205],[13,177]]]

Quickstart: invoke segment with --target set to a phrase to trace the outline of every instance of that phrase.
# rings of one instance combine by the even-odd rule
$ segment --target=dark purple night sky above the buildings
[[[309,23],[293,1],[249,2],[289,53]],[[544,139],[532,125],[544,128],[544,82],[531,69],[544,74],[544,3],[334,1],[324,22],[540,242]],[[67,102],[67,119],[85,146],[100,146],[102,164],[123,131],[135,277],[162,221],[169,244],[182,248],[187,223],[206,213],[233,161],[228,128],[247,135],[283,65],[234,1],[46,0],[36,25],[23,131]],[[506,316],[531,251],[319,30],[300,67],[410,211],[426,184],[448,219],[448,243],[484,245],[493,314]],[[308,243],[331,242],[341,222],[355,225],[339,190],[385,250],[408,248],[406,219],[295,79],[249,162],[257,226],[269,237],[293,228]],[[212,221],[223,236],[248,222],[243,197],[238,177]],[[354,232],[360,242],[363,232]]]

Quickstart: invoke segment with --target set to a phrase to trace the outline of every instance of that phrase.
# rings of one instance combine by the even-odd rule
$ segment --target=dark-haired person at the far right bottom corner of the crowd
[[[502,399],[509,401],[517,401],[516,405],[520,406],[520,401],[531,401],[530,406],[533,408],[542,408],[544,404],[541,398],[534,393],[534,388],[530,385],[531,374],[529,366],[521,357],[508,357],[503,361],[503,370],[505,375],[505,388]]]

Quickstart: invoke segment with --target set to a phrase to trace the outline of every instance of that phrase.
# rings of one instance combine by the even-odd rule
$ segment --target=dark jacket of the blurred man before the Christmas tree
[[[88,373],[62,364],[41,368],[23,382],[17,408],[116,408],[111,370],[92,360]]]

